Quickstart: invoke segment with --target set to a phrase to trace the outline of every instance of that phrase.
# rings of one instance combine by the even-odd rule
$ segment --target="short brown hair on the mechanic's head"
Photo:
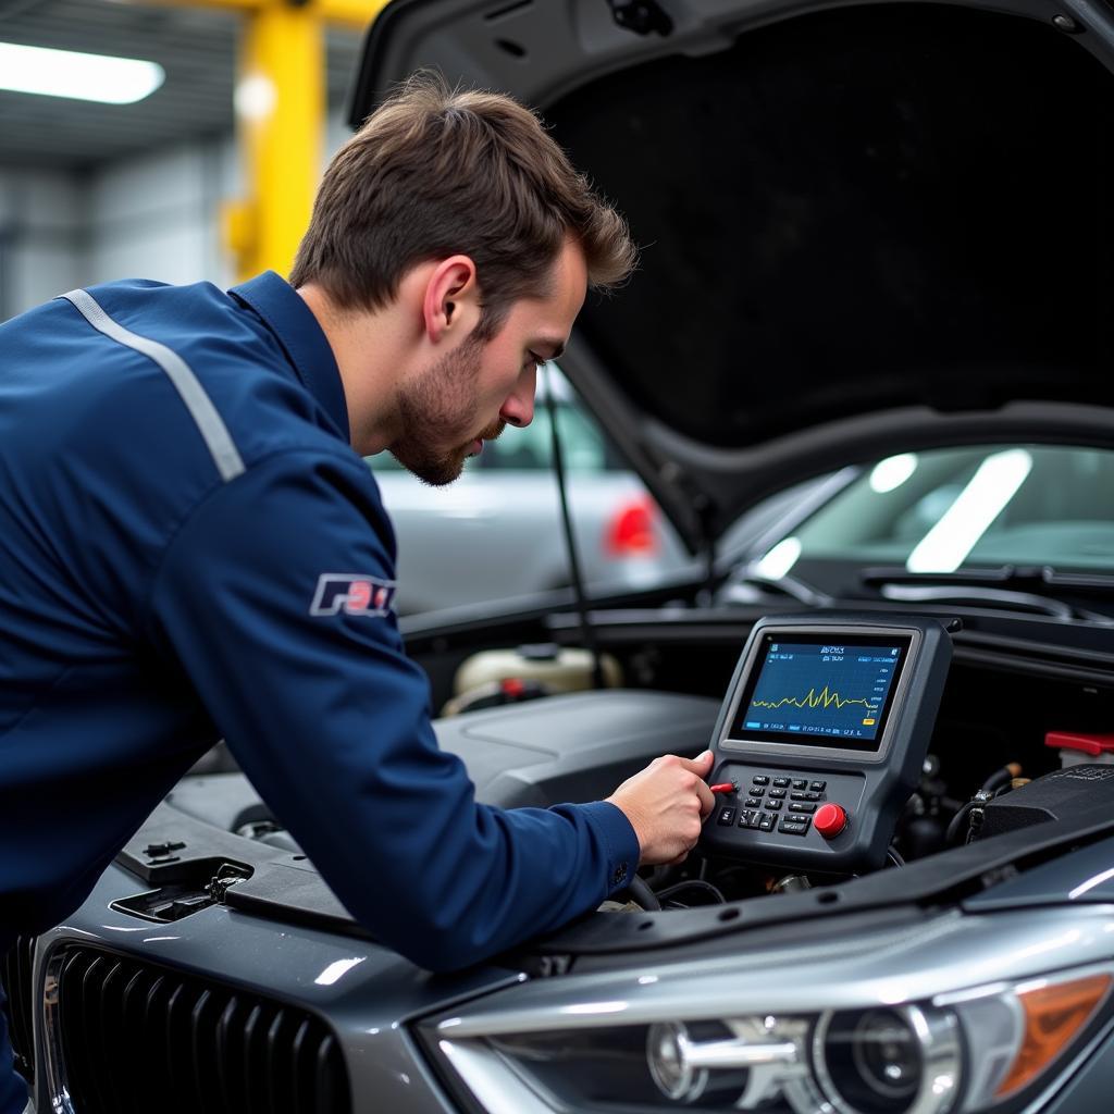
[[[379,309],[412,266],[458,253],[476,263],[492,335],[518,299],[545,293],[566,236],[588,282],[631,273],[626,222],[590,188],[541,121],[510,97],[412,76],[325,172],[290,281],[341,309]]]

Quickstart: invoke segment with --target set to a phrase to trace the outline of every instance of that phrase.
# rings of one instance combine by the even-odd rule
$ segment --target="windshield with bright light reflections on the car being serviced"
[[[852,561],[954,573],[967,566],[1114,571],[1114,452],[981,446],[888,457],[759,563]]]

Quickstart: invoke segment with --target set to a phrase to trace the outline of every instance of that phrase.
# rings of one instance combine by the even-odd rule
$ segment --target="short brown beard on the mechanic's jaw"
[[[469,336],[399,392],[402,434],[390,446],[391,456],[431,487],[458,479],[472,442],[494,441],[506,428],[495,421],[471,432],[479,419],[476,383],[482,354],[483,341]]]

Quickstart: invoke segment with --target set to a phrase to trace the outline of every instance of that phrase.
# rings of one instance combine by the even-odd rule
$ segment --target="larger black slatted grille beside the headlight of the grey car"
[[[68,948],[58,1016],[77,1114],[349,1114],[317,1017],[97,948]]]

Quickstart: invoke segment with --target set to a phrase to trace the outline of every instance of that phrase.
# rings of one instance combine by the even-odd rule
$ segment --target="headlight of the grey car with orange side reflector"
[[[576,1024],[469,1033],[426,1028],[472,1103],[487,1111],[658,1114],[966,1114],[1046,1081],[1108,1013],[1112,976],[1088,968],[931,1000],[813,1014],[609,1023],[616,1003],[563,1009]]]

